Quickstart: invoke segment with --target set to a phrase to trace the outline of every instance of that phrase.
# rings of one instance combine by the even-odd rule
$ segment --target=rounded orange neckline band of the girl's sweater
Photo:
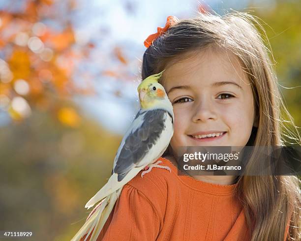
[[[165,157],[160,157],[159,160],[161,160],[162,162],[165,161],[168,164],[168,166],[172,169],[172,172],[175,173],[177,178],[182,183],[194,189],[198,189],[200,191],[211,193],[211,194],[233,194],[234,189],[237,186],[237,183],[231,185],[221,185],[221,184],[215,184],[206,181],[200,181],[193,177],[187,176],[185,174],[179,175],[181,171],[169,159]]]

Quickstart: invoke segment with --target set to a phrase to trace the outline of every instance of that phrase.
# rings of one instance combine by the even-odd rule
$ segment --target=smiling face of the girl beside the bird
[[[245,146],[255,108],[247,75],[234,54],[201,51],[169,64],[164,80],[175,114],[174,151],[178,146]]]

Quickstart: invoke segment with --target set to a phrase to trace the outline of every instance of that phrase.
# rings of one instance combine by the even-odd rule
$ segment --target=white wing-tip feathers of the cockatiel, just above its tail
[[[120,187],[124,186],[127,182],[133,179],[143,168],[144,167],[132,168],[121,181],[118,181],[118,174],[113,173],[109,181],[88,201],[85,208],[90,209],[94,206],[95,203],[115,192]]]

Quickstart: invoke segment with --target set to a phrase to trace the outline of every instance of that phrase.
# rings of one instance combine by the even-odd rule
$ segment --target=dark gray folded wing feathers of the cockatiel
[[[121,181],[133,167],[139,167],[139,162],[156,144],[165,128],[165,120],[168,115],[165,110],[151,110],[142,114],[138,113],[134,120],[138,121],[139,118],[143,118],[143,120],[139,120],[141,126],[134,131],[132,129],[124,140],[123,146],[120,147],[120,153],[113,169],[113,172],[118,174],[118,181]]]

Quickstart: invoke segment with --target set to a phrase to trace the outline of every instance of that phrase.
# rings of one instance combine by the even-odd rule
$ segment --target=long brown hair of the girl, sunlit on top
[[[264,36],[255,25],[261,28]],[[212,46],[234,53],[251,84],[258,127],[253,127],[247,145],[284,146],[291,140],[300,145],[300,134],[278,89],[265,30],[259,20],[248,13],[233,12],[224,16],[199,13],[194,19],[177,19],[177,23],[145,51],[142,79],[168,68],[171,62],[190,58]],[[169,151],[170,147],[164,154]],[[254,155],[250,163],[259,159]],[[239,177],[235,195],[245,211],[252,241],[283,241],[288,223],[287,240],[301,240],[299,184],[296,176]]]

